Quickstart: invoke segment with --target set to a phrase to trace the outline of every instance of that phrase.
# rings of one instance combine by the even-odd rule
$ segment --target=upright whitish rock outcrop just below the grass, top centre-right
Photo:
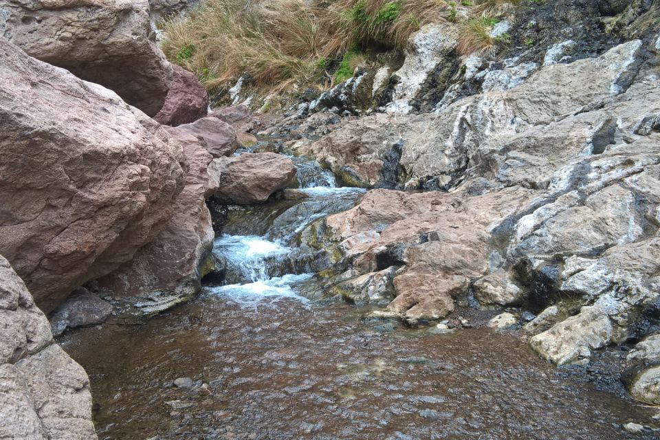
[[[386,105],[390,113],[409,113],[411,101],[417,98],[423,83],[438,66],[450,63],[458,45],[456,26],[450,23],[426,25],[410,36],[406,61],[393,75],[397,78],[392,101]]]

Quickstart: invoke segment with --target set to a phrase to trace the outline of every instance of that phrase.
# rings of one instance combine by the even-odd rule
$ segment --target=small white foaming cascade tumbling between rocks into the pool
[[[217,237],[213,248],[217,258],[225,262],[225,281],[224,285],[208,287],[209,293],[245,307],[267,305],[281,298],[307,303],[296,293],[296,286],[323,270],[325,263],[315,252],[298,247],[298,234],[318,219],[352,208],[365,190],[337,188],[334,175],[318,162],[300,157],[292,160],[298,167],[300,191],[307,197],[282,202],[283,208],[256,208],[248,214],[252,221],[241,219],[225,228],[228,230]],[[263,234],[250,230],[250,224],[263,223],[268,225],[261,229]]]

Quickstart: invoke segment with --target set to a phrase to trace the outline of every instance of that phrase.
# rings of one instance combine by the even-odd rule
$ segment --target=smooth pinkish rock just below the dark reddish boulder
[[[214,158],[230,156],[236,148],[239,148],[239,140],[234,129],[218,118],[211,116],[201,118],[191,124],[179,125],[177,129],[197,137]]]

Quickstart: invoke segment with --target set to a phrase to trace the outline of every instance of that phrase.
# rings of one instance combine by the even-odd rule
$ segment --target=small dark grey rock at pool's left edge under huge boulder
[[[50,316],[54,336],[67,329],[102,324],[112,313],[112,306],[98,295],[80,287],[72,293]]]

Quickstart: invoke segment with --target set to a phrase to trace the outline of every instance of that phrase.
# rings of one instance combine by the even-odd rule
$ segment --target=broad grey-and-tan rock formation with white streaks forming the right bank
[[[393,175],[399,148],[391,182],[450,190],[372,191],[315,225],[349,267],[329,285],[360,296],[364,276],[393,269],[388,309],[408,322],[442,318],[471,292],[542,312],[531,346],[557,364],[642,335],[659,292],[657,50],[629,41],[436,114],[366,116],[294,144],[365,186]],[[637,376],[646,401],[651,374]]]

